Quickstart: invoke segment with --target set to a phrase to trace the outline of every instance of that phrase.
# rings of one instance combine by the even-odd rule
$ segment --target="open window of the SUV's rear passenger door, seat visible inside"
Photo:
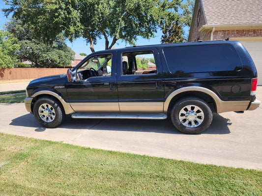
[[[121,75],[157,73],[152,51],[127,52],[122,54]]]

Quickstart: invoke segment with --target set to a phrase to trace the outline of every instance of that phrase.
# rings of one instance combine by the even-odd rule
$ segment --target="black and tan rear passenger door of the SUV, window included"
[[[163,69],[157,50],[127,48],[120,50],[117,55],[120,112],[162,113]]]

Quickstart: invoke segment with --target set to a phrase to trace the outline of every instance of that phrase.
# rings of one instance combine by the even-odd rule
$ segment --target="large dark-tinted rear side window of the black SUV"
[[[242,67],[229,44],[167,47],[163,51],[172,73],[233,71]]]

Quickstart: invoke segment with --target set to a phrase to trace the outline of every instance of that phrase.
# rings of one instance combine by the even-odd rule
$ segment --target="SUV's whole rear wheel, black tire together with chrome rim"
[[[209,127],[212,119],[213,114],[209,105],[196,97],[178,100],[171,111],[171,120],[175,128],[188,134],[203,132]]]

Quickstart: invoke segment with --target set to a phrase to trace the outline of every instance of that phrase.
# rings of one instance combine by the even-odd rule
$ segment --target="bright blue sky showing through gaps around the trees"
[[[0,1],[0,10],[6,8],[5,2],[2,0]],[[0,11],[0,29],[3,29],[3,25],[7,21],[6,17],[4,16],[3,12]],[[149,40],[139,38],[138,41],[136,42],[136,45],[138,46],[143,46],[143,45],[152,45],[152,44],[160,44],[161,42],[161,36],[162,36],[162,31],[161,29],[158,30],[158,32],[155,34],[154,37],[150,38]],[[112,39],[109,39],[110,43],[112,42]],[[81,53],[84,52],[86,54],[90,54],[91,50],[89,49],[89,44],[86,43],[86,41],[83,38],[78,38],[74,40],[72,43],[67,41],[66,42],[67,46],[73,49],[76,53]],[[125,42],[122,42],[118,40],[116,44],[113,47],[116,48],[124,48],[124,47],[129,47],[129,44],[125,44]],[[103,50],[105,49],[105,39],[100,39],[98,40],[97,44],[94,46],[95,51]]]

